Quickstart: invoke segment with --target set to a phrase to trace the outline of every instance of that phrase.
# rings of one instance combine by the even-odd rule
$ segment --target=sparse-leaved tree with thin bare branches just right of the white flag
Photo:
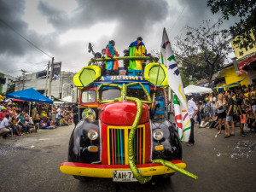
[[[172,44],[175,55],[182,63],[183,75],[193,80],[207,79],[212,91],[214,84],[212,77],[224,65],[224,60],[230,54],[229,31],[220,30],[220,20],[216,25],[210,26],[210,21],[203,21],[199,28],[187,26],[185,38],[177,37]],[[186,81],[186,79],[184,79]]]

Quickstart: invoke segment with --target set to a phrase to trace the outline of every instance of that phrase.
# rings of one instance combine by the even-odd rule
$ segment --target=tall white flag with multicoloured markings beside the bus
[[[161,60],[162,64],[167,67],[168,84],[174,92],[174,113],[179,138],[184,142],[189,142],[191,124],[188,113],[188,104],[184,93],[183,82],[178,71],[177,62],[166,33],[166,28],[164,28],[161,44]]]

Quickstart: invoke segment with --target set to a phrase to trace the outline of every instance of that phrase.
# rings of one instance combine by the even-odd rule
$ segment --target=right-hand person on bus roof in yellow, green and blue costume
[[[137,41],[132,42],[129,46],[130,56],[144,56],[146,48],[143,44],[143,38],[138,37]],[[130,70],[143,70],[143,60],[130,60]]]

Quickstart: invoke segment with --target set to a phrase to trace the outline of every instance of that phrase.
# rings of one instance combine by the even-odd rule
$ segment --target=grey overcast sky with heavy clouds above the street
[[[221,16],[212,15],[207,0],[0,0],[0,72],[38,72],[50,57],[78,72],[92,57],[89,42],[100,52],[113,39],[122,55],[141,36],[150,52],[160,50],[163,27],[172,41],[185,26],[214,24]]]

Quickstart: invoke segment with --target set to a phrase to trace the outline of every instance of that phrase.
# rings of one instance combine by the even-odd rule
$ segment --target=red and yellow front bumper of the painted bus
[[[170,161],[180,168],[185,168],[186,164],[182,160]],[[137,165],[138,170],[143,176],[163,175],[176,172],[169,167],[158,163]],[[65,162],[61,164],[61,172],[69,175],[84,177],[113,177],[113,170],[131,170],[129,165],[95,165],[85,163]]]

